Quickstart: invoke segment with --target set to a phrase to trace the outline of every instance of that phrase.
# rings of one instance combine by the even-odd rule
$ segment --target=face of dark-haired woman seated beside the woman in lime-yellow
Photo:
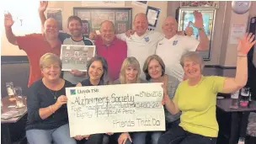
[[[148,63],[148,74],[152,79],[157,79],[159,77],[162,76],[162,67],[159,63],[159,61],[157,61],[156,59],[152,59],[149,63]]]

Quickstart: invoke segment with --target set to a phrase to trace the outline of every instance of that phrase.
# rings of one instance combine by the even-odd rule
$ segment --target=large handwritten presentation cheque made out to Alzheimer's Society
[[[66,88],[70,136],[165,131],[162,84]]]

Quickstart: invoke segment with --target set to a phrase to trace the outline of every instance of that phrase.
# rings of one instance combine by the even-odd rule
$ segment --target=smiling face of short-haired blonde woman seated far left
[[[41,73],[47,81],[54,82],[61,76],[61,67],[58,62],[46,64],[41,68]]]

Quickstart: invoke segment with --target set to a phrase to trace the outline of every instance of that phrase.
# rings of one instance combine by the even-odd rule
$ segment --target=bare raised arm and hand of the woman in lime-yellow
[[[243,88],[248,80],[248,51],[256,43],[254,35],[250,33],[243,36],[243,39],[239,39],[237,45],[237,72],[236,77],[227,77],[224,81],[222,93],[233,93],[240,88]]]

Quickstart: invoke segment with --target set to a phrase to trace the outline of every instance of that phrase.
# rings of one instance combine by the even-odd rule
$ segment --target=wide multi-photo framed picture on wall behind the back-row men
[[[83,35],[89,35],[91,30],[99,30],[104,20],[115,25],[117,34],[131,29],[132,8],[73,8],[73,14],[83,21]]]

